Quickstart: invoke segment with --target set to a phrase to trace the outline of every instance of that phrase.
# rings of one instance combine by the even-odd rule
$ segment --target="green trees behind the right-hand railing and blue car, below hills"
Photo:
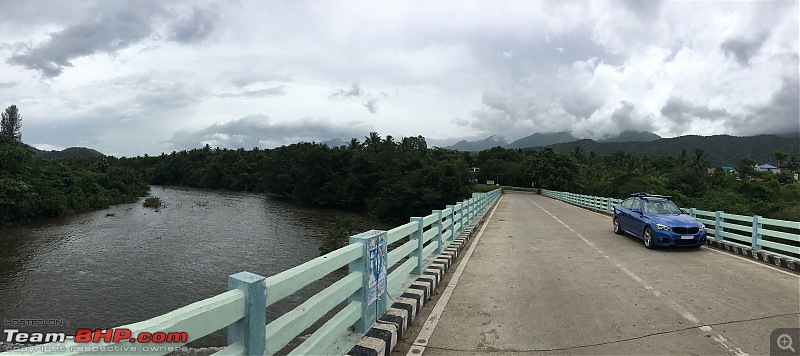
[[[465,155],[480,168],[481,181],[499,178],[503,185],[533,183],[537,188],[616,198],[646,191],[672,195],[683,207],[800,221],[800,184],[794,175],[756,172],[749,158],[738,162],[736,173],[717,169],[709,174],[712,166],[702,149],[655,159],[623,152],[600,156],[580,147],[570,153],[495,147]],[[784,170],[798,170],[795,155],[776,151],[773,156]]]

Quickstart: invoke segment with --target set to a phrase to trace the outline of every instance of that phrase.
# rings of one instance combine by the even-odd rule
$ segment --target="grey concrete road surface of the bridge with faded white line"
[[[609,216],[544,196],[508,192],[472,244],[410,355],[760,355],[774,329],[800,327],[797,274],[647,250]]]

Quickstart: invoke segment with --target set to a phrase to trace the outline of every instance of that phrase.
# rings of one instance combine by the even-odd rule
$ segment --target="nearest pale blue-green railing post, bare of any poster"
[[[263,355],[267,339],[266,278],[250,272],[228,276],[228,290],[244,293],[244,318],[228,326],[228,345],[239,344],[245,355]]]

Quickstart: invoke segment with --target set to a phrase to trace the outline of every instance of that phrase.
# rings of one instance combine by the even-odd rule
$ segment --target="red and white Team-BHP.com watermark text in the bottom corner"
[[[88,329],[79,328],[75,331],[75,335],[67,335],[66,333],[42,333],[42,332],[23,332],[19,329],[5,329],[3,330],[3,340],[6,343],[24,344],[24,343],[63,343],[66,341],[73,341],[76,344],[87,344],[86,346],[70,346],[69,351],[136,351],[136,346],[130,345],[134,343],[143,344],[185,344],[189,335],[185,332],[140,332],[136,335],[127,328],[112,328],[112,329]],[[123,345],[104,345],[97,346],[91,345],[93,343],[125,343]],[[18,351],[24,349],[31,349],[30,351],[48,351],[38,350],[37,348],[49,347],[58,348],[58,345],[36,345],[20,347]],[[66,347],[62,347],[66,348]],[[103,348],[102,350],[100,348]],[[113,349],[112,349],[113,348]],[[180,348],[169,347],[161,350],[164,346],[141,346],[141,351],[167,351],[171,352]],[[74,350],[73,350],[74,349]],[[95,350],[97,349],[97,350]],[[49,350],[53,351],[53,350]],[[57,351],[57,350],[56,350]],[[66,351],[66,350],[65,350]]]

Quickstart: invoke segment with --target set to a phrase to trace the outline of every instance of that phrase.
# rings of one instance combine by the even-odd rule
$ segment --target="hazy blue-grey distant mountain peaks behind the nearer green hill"
[[[607,137],[600,140],[600,142],[653,141],[660,138],[661,136],[648,131],[623,131],[619,135]],[[488,150],[496,146],[502,146],[504,148],[529,148],[574,141],[578,141],[578,138],[573,136],[569,131],[537,132],[508,144],[497,138],[496,135],[492,135],[480,141],[470,142],[461,140],[455,145],[446,148],[457,151],[475,152]]]

